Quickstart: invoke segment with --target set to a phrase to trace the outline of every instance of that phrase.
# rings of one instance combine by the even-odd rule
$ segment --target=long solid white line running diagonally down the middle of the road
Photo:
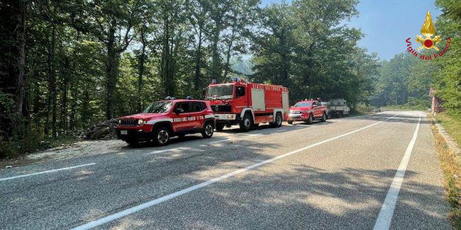
[[[389,120],[389,119],[391,119],[391,118],[393,118],[393,117],[389,117],[389,118],[387,118],[386,120]],[[125,209],[125,210],[123,210],[123,211],[121,211],[121,212],[116,212],[116,213],[111,214],[111,215],[109,215],[109,216],[107,216],[107,217],[104,217],[104,218],[101,218],[101,219],[96,219],[96,220],[94,220],[94,221],[92,221],[92,222],[89,222],[89,223],[87,223],[87,224],[83,224],[83,225],[77,226],[77,227],[75,227],[74,229],[71,229],[71,230],[86,230],[86,229],[92,229],[92,228],[94,228],[94,227],[96,227],[96,226],[99,226],[99,225],[101,225],[101,224],[106,224],[107,222],[111,222],[111,221],[113,221],[114,219],[119,219],[119,218],[121,218],[121,217],[128,216],[129,214],[133,214],[133,213],[135,213],[135,212],[138,212],[138,211],[140,211],[140,210],[146,209],[146,208],[148,208],[148,207],[152,207],[152,206],[154,206],[154,205],[158,205],[158,204],[160,204],[161,202],[165,202],[165,201],[167,201],[167,200],[171,200],[171,199],[173,199],[173,198],[175,198],[175,197],[179,197],[180,195],[184,195],[184,194],[186,194],[186,193],[188,193],[188,192],[192,192],[192,191],[197,190],[197,189],[199,189],[199,188],[204,188],[204,187],[206,187],[206,186],[208,186],[208,185],[211,185],[211,184],[213,184],[213,183],[218,182],[219,180],[223,180],[223,179],[226,179],[226,178],[233,177],[233,176],[235,176],[235,175],[237,175],[237,174],[239,174],[239,173],[243,173],[243,172],[248,171],[248,170],[250,170],[250,169],[252,169],[252,168],[257,168],[257,167],[263,166],[263,165],[265,165],[265,164],[267,164],[267,163],[270,163],[270,162],[272,162],[272,161],[277,161],[278,159],[282,159],[282,158],[285,158],[285,157],[290,156],[290,155],[292,155],[292,154],[299,153],[300,151],[304,151],[304,150],[306,150],[306,149],[310,149],[310,148],[312,148],[312,147],[314,147],[314,146],[318,146],[318,145],[324,144],[324,143],[326,143],[326,142],[331,142],[331,141],[333,141],[334,139],[338,139],[338,138],[341,138],[341,137],[348,136],[348,135],[353,134],[353,133],[355,133],[355,132],[359,132],[360,130],[365,130],[365,129],[367,129],[367,128],[369,128],[369,127],[372,127],[372,126],[374,126],[374,125],[378,125],[379,123],[384,122],[384,121],[385,121],[385,120],[382,120],[382,121],[379,121],[379,122],[375,122],[375,123],[373,123],[372,125],[368,125],[368,126],[366,126],[366,127],[362,127],[362,128],[360,128],[360,129],[358,129],[358,130],[354,130],[354,131],[352,131],[352,132],[348,132],[348,133],[345,133],[345,134],[341,134],[341,135],[339,135],[339,136],[337,136],[337,137],[333,137],[333,138],[331,138],[331,139],[326,139],[326,140],[323,141],[323,142],[318,142],[318,143],[316,143],[316,144],[311,144],[311,145],[306,146],[306,147],[304,147],[304,148],[297,149],[297,150],[294,150],[294,151],[290,151],[290,152],[288,152],[288,153],[286,153],[286,154],[282,154],[282,155],[276,156],[276,157],[274,157],[274,158],[272,158],[272,159],[267,159],[267,160],[265,160],[265,161],[261,161],[261,162],[259,162],[259,163],[252,164],[251,166],[247,166],[247,167],[245,167],[245,168],[240,168],[240,169],[237,170],[237,171],[233,171],[233,172],[231,172],[231,173],[224,174],[223,176],[218,176],[217,178],[213,178],[213,179],[207,180],[207,181],[205,181],[205,182],[203,182],[203,183],[199,183],[199,184],[197,184],[197,185],[193,185],[193,186],[191,186],[191,187],[189,187],[189,188],[185,188],[185,189],[183,189],[183,190],[179,190],[179,191],[177,191],[177,192],[173,192],[173,193],[171,193],[171,194],[169,194],[169,195],[165,195],[165,196],[163,196],[163,197],[159,197],[159,198],[157,198],[157,199],[155,199],[155,200],[151,200],[151,201],[149,201],[149,202],[145,202],[145,203],[140,204],[140,205],[137,205],[137,206],[135,206],[135,207],[130,207],[129,209]]]

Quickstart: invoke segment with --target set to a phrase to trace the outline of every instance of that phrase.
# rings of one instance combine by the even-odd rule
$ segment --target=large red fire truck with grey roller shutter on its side
[[[280,127],[288,119],[288,88],[234,79],[231,83],[208,86],[205,99],[210,100],[216,118],[216,130],[240,125],[247,132],[260,123]]]

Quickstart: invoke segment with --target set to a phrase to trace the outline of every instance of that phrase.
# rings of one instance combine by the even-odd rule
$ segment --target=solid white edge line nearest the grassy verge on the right
[[[418,137],[419,131],[419,124],[421,122],[421,113],[419,114],[418,125],[416,125],[416,130],[413,133],[413,138],[408,147],[406,147],[404,158],[400,162],[399,169],[397,169],[397,173],[395,174],[394,180],[392,180],[391,188],[387,192],[386,198],[384,199],[384,203],[382,204],[381,211],[379,211],[378,219],[376,220],[376,224],[374,224],[373,230],[389,230],[391,227],[392,216],[394,215],[394,208],[397,202],[397,198],[399,198],[399,192],[401,188],[401,184],[404,180],[406,166],[409,164],[411,151],[413,151],[413,147],[415,146],[416,138]]]

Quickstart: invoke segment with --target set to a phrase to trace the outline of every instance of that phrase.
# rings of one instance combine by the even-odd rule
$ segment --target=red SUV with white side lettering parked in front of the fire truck
[[[130,145],[153,141],[163,146],[171,137],[201,132],[213,136],[215,118],[204,100],[159,100],[150,103],[144,113],[120,117],[117,137]]]

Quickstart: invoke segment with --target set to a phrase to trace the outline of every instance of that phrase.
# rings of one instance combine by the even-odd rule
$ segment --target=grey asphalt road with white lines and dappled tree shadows
[[[1,169],[0,229],[451,229],[425,113],[295,124]]]

